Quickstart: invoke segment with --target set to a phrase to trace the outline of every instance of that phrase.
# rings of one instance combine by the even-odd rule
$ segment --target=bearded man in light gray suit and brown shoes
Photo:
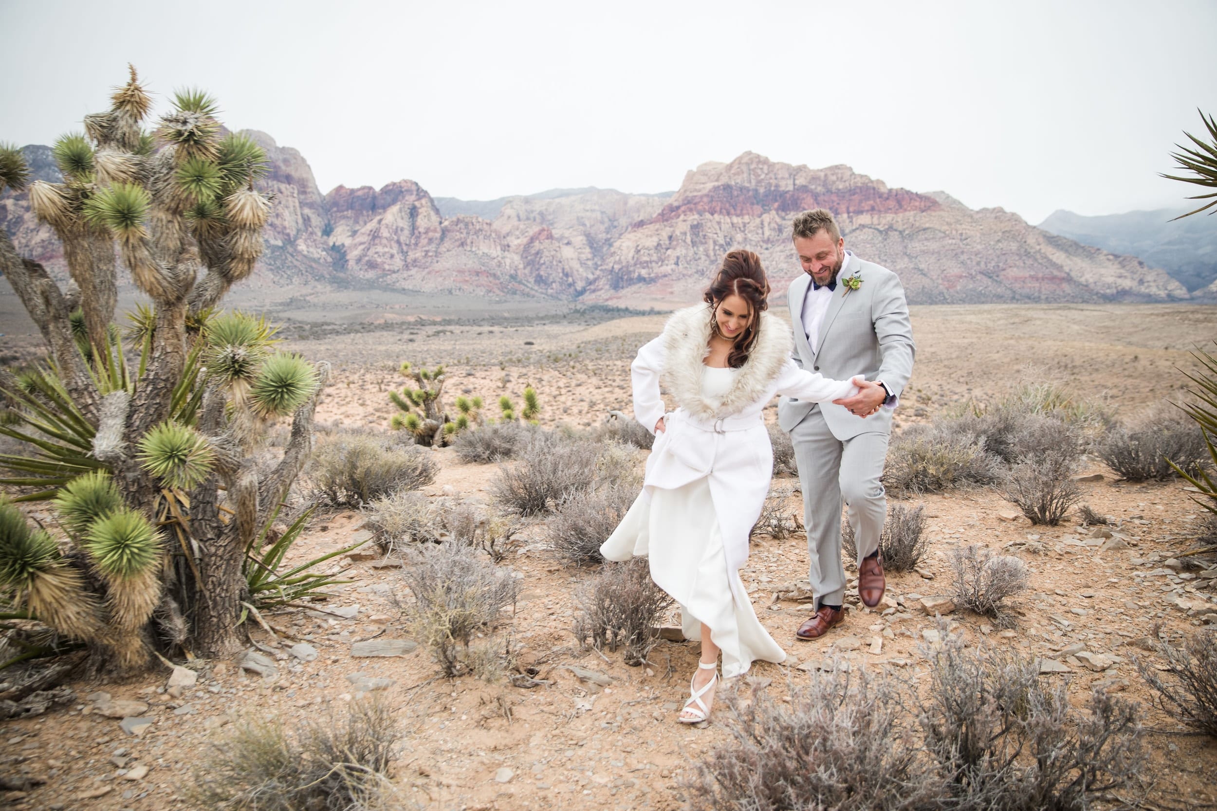
[[[849,505],[858,550],[858,595],[870,608],[884,596],[879,536],[887,500],[880,478],[892,410],[913,372],[914,347],[899,278],[846,250],[832,214],[823,208],[803,212],[795,218],[792,238],[803,266],[789,291],[795,361],[825,377],[864,374],[868,381],[837,405],[786,398],[778,404],[778,424],[795,445],[815,595],[815,614],[796,636],[814,640],[845,616],[842,500]]]

